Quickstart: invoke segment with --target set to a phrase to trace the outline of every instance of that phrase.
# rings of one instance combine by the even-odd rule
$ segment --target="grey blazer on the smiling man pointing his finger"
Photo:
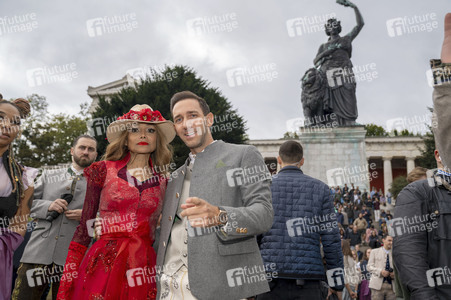
[[[164,258],[187,163],[172,174],[166,190],[158,274],[170,268]],[[242,299],[269,291],[256,236],[273,223],[270,181],[254,146],[216,141],[197,154],[189,195],[226,210],[229,222],[222,230],[188,229],[188,277],[196,298]]]

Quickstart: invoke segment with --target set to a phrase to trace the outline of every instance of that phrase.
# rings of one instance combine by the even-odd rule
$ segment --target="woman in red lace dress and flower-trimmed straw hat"
[[[152,244],[174,136],[172,122],[147,105],[135,105],[108,126],[104,160],[84,171],[83,214],[58,299],[155,299]],[[97,212],[102,235],[85,255]]]

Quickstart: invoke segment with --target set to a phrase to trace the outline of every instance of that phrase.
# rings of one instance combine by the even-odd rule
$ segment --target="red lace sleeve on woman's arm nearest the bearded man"
[[[89,235],[88,233],[92,231],[88,232],[87,225],[92,226],[93,222],[91,221],[88,224],[88,221],[95,219],[99,210],[100,193],[105,182],[106,172],[105,161],[93,163],[83,171],[83,175],[87,181],[85,203],[83,204],[80,224],[77,226],[77,230],[75,230],[72,242],[85,247],[88,247],[91,242],[92,234]]]

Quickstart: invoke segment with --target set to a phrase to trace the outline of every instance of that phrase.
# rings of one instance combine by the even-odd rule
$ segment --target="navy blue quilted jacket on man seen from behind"
[[[265,265],[275,264],[278,278],[325,280],[321,239],[327,269],[343,268],[329,187],[287,166],[273,176],[271,191],[274,223],[260,244]]]

